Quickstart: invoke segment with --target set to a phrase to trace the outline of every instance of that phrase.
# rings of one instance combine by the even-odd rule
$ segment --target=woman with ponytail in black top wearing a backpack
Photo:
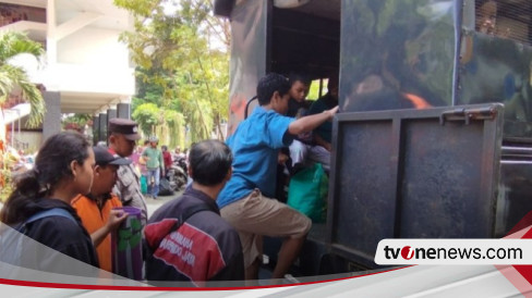
[[[94,165],[93,149],[81,134],[64,132],[49,137],[37,154],[35,166],[16,177],[0,220],[49,248],[98,266],[90,236],[70,204],[76,195],[88,194]],[[50,210],[55,214],[35,220]],[[76,268],[75,263],[58,261],[64,260],[61,253],[45,252],[28,241],[25,244],[22,250],[26,252],[21,253],[23,260],[19,261],[26,268],[63,274]],[[27,252],[27,246],[37,252]],[[48,257],[36,258],[36,253]]]

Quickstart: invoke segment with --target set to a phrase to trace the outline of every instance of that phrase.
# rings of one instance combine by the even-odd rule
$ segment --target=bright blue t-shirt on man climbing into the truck
[[[293,121],[293,117],[257,107],[240,123],[227,140],[234,157],[233,174],[218,195],[220,208],[246,197],[255,188],[266,197],[275,197],[277,158],[279,149],[292,142],[287,131]]]

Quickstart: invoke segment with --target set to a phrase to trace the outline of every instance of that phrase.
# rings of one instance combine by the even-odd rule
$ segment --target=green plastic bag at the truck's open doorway
[[[298,172],[290,179],[287,204],[315,223],[325,222],[329,179],[321,163]]]

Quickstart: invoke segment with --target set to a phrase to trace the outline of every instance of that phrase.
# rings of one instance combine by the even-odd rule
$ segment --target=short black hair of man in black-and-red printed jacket
[[[223,182],[232,166],[231,149],[219,140],[203,140],[192,145],[189,162],[194,182],[214,186]]]

